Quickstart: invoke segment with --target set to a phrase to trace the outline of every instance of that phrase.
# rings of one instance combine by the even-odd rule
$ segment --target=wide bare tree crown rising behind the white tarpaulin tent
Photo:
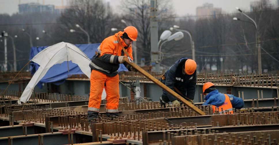
[[[112,34],[110,28],[116,25],[118,16],[110,11],[110,5],[101,0],[73,0],[56,27],[56,39],[71,43],[87,43],[87,36],[76,24],[80,25],[90,36],[91,43],[101,43]],[[70,29],[76,33],[69,32]]]

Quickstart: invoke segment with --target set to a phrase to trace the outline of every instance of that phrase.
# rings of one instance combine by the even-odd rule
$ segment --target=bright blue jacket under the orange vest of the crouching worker
[[[231,105],[233,108],[241,109],[244,106],[244,101],[241,98],[235,97],[231,94],[227,94],[230,98]],[[225,102],[225,95],[222,93],[219,93],[218,90],[214,90],[206,95],[206,98],[204,98],[206,102],[204,102],[202,105],[215,105],[215,106],[221,106]]]

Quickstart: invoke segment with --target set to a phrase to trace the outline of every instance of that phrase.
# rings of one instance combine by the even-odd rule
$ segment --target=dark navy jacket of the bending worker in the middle
[[[183,66],[185,65],[186,60],[188,60],[188,58],[186,57],[177,60],[175,64],[166,71],[166,79],[161,79],[161,82],[173,91],[175,91],[174,87],[176,87],[181,92],[181,94],[193,100],[195,97],[197,83],[197,70],[195,70],[192,75],[187,75],[183,70]],[[167,96],[168,99],[165,96]],[[168,94],[165,90],[163,90],[162,99],[164,102],[172,102],[174,100],[177,100],[177,98],[175,98],[171,94]]]

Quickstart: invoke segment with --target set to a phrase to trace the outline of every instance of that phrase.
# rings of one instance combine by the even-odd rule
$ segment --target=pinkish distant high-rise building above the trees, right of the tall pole
[[[204,3],[201,7],[196,8],[196,15],[198,16],[198,19],[209,18],[210,15],[216,16],[221,13],[222,8],[213,7],[212,3]]]

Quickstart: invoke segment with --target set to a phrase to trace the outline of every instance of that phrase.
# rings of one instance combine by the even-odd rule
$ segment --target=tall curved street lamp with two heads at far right
[[[262,73],[262,66],[261,66],[261,42],[260,42],[260,34],[258,32],[258,28],[257,28],[257,24],[256,22],[250,18],[248,15],[246,15],[241,9],[239,9],[238,7],[235,7],[235,9],[237,9],[239,12],[241,12],[241,14],[243,14],[244,16],[246,16],[247,18],[249,18],[253,23],[253,25],[255,26],[256,28],[256,47],[258,48],[258,69],[259,69],[259,74]],[[237,21],[242,21],[242,22],[248,22],[248,21],[243,21],[243,20],[240,20],[239,18],[233,18],[233,20],[237,20]],[[249,22],[251,23],[251,22]]]

